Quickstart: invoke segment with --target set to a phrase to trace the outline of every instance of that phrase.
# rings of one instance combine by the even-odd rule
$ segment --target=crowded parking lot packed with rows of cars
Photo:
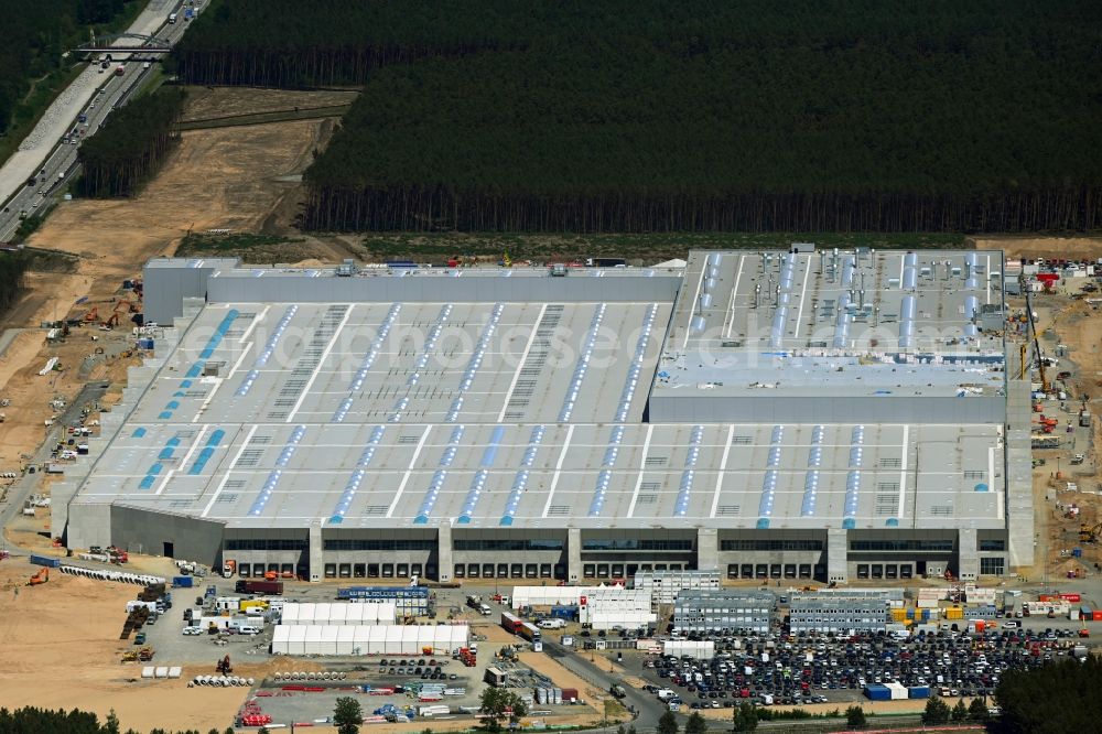
[[[694,709],[853,700],[865,686],[888,682],[941,695],[991,695],[1005,671],[1074,654],[1074,636],[1069,629],[939,632],[905,640],[883,632],[715,636],[715,658],[648,657],[644,673],[659,698]]]

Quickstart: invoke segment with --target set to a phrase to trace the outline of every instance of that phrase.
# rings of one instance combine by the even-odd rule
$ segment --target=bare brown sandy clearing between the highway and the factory
[[[273,95],[258,89],[241,91],[229,105],[224,90],[198,89],[193,104],[204,115],[219,109],[238,114],[253,111],[250,101],[260,109],[316,106],[333,104],[334,95],[348,96]],[[0,397],[11,400],[4,409],[7,421],[0,424],[0,471],[19,469],[23,455],[42,442],[43,421],[53,412],[50,400],[72,398],[87,379],[121,385],[127,366],[137,364],[115,356],[126,347],[129,314],[114,333],[96,327],[122,296],[121,282],[139,276],[148,258],[171,253],[188,229],[257,231],[266,223],[273,226],[273,213],[293,209],[299,193],[299,184],[287,177],[302,173],[331,126],[331,121],[304,120],[186,132],[162,173],[138,197],[74,201],[57,207],[28,245],[79,259],[73,272],[32,273],[25,298],[6,315],[4,327],[30,331],[17,335],[0,353]],[[338,259],[343,252],[322,249],[314,255]],[[87,301],[76,305],[83,298]],[[45,333],[37,328],[41,322],[84,315],[93,307],[99,314],[87,327],[74,330],[64,343],[45,344]],[[98,359],[97,348],[105,352]],[[58,357],[62,370],[40,376],[51,357]]]

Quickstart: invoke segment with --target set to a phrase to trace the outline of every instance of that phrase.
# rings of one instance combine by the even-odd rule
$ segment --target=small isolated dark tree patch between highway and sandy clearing
[[[94,197],[137,194],[179,142],[176,128],[185,98],[180,87],[162,87],[108,117],[77,151],[84,166],[80,193]]]

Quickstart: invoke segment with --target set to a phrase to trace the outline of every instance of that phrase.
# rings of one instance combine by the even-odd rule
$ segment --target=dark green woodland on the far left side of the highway
[[[57,73],[65,63],[62,53],[86,41],[89,25],[109,23],[127,4],[127,0],[0,0],[0,134],[32,80]]]

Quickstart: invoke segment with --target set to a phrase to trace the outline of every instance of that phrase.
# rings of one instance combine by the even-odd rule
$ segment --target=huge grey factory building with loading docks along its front
[[[145,267],[69,548],[302,578],[969,580],[1033,562],[1000,252]]]

